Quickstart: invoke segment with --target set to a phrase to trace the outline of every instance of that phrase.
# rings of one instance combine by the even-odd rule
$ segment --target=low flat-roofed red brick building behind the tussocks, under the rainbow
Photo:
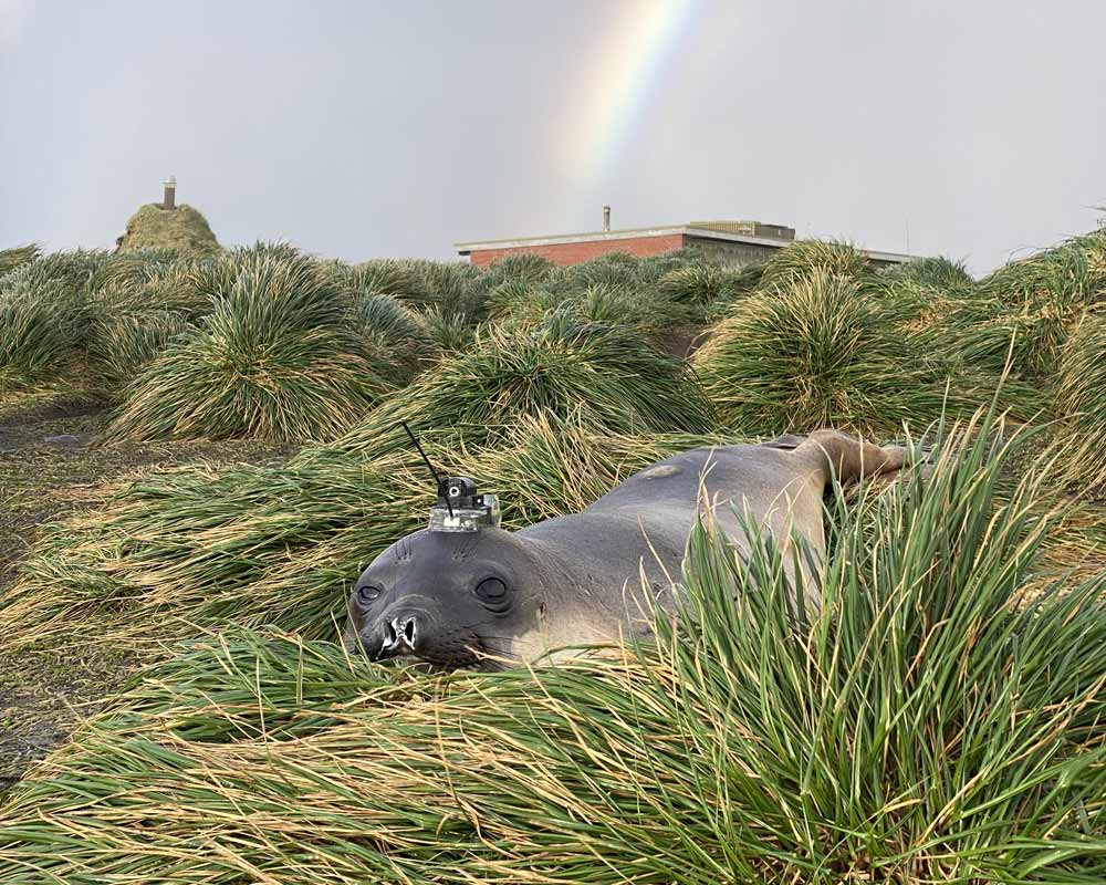
[[[655,256],[693,246],[720,264],[740,267],[764,261],[795,239],[794,228],[760,221],[690,221],[656,228],[609,229],[604,212],[604,230],[591,233],[560,233],[549,237],[519,237],[510,240],[476,240],[455,244],[457,253],[480,268],[508,256],[532,252],[557,264],[578,264],[607,252]],[[901,264],[909,256],[862,250],[876,264]]]

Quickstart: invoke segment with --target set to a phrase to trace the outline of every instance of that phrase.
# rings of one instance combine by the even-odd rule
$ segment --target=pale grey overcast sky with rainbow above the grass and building
[[[987,271],[1106,204],[1104,0],[0,0],[0,248],[755,218]]]

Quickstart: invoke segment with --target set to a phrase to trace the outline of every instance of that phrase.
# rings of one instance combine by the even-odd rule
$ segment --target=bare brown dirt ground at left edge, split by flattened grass
[[[104,446],[97,436],[106,421],[106,405],[91,396],[0,398],[0,598],[41,525],[94,507],[129,479],[190,462],[260,464],[290,454],[258,442]],[[102,647],[0,653],[0,794],[133,669],[125,654]]]

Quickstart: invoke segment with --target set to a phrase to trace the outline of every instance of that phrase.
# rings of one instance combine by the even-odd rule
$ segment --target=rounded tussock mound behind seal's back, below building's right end
[[[951,371],[900,334],[855,280],[830,273],[748,298],[714,327],[695,367],[721,420],[752,435],[925,427],[942,413]]]

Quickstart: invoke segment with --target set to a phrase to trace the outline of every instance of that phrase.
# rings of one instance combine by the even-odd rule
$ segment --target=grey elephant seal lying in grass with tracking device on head
[[[897,470],[904,454],[835,430],[692,449],[635,473],[580,513],[515,532],[498,521],[458,529],[463,513],[486,512],[473,498],[477,510],[450,507],[451,530],[435,530],[431,517],[429,530],[400,539],[362,573],[345,641],[374,659],[414,656],[455,668],[647,635],[656,605],[674,607],[674,581],[705,507],[739,549],[749,540],[734,510],[784,543],[797,531],[821,562],[826,485]],[[471,480],[439,487],[446,522],[440,506],[468,500],[457,485],[444,490],[448,483]],[[800,582],[815,606],[817,577]]]

